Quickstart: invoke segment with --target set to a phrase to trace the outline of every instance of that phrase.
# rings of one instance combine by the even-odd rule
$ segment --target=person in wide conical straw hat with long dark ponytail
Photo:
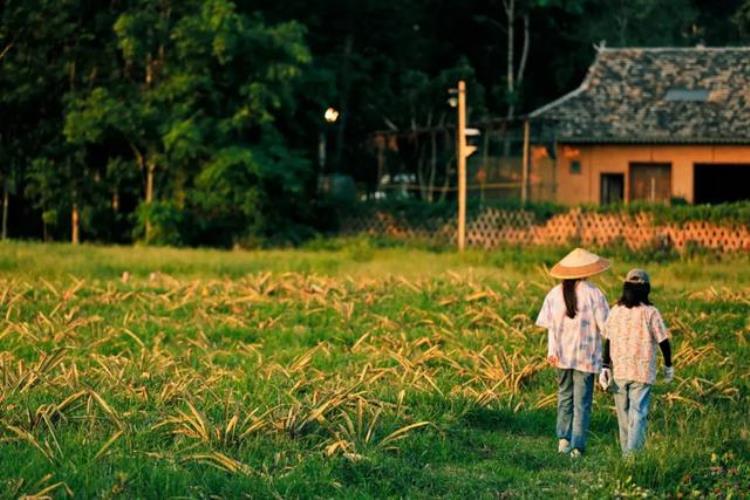
[[[557,368],[558,451],[580,456],[586,449],[594,375],[601,368],[601,331],[607,298],[586,278],[608,269],[608,260],[576,248],[550,275],[562,280],[544,299],[536,324],[548,331],[547,360]]]

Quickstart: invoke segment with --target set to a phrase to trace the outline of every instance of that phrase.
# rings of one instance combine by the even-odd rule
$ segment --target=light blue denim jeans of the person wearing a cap
[[[620,427],[620,448],[627,455],[643,448],[646,443],[651,384],[615,380],[612,391]]]

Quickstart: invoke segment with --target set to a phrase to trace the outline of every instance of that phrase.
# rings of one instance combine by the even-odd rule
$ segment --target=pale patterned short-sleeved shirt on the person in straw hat
[[[607,298],[588,281],[576,286],[578,312],[566,314],[562,285],[547,294],[536,324],[548,331],[547,356],[557,356],[558,368],[597,373],[602,365],[600,332],[609,313]]]

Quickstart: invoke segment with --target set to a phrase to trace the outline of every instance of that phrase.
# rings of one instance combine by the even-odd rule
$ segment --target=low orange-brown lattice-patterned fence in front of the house
[[[345,218],[344,234],[368,234],[397,239],[419,239],[436,244],[455,242],[455,218],[435,217],[408,222],[391,213]],[[469,246],[492,249],[503,244],[606,246],[624,244],[632,250],[671,247],[682,252],[700,247],[722,252],[750,251],[748,225],[718,225],[705,221],[657,223],[651,214],[604,214],[572,209],[545,222],[531,212],[483,209],[467,221]]]

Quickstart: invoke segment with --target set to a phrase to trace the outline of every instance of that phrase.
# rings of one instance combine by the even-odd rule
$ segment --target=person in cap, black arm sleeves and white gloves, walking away
[[[664,356],[664,381],[669,383],[674,378],[669,333],[659,310],[648,299],[650,292],[651,280],[646,271],[632,269],[603,332],[604,368],[599,384],[605,390],[612,386],[624,455],[641,449],[646,442],[657,345]]]

